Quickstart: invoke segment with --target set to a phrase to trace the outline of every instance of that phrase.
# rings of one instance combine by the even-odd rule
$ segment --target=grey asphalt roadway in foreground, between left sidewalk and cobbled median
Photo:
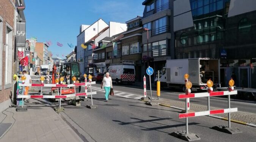
[[[94,91],[94,90],[93,90]],[[135,89],[129,89],[135,91]],[[91,104],[90,97],[82,101],[82,106],[75,107],[62,103],[72,121],[96,142],[184,142],[170,133],[185,130],[185,119],[179,119],[179,110],[162,106],[148,106],[136,99],[119,96],[104,101],[104,93],[97,91],[93,96],[96,109],[86,108]],[[256,128],[231,122],[243,133],[226,134],[211,129],[228,122],[212,117],[192,117],[189,132],[197,134],[201,142],[251,142],[256,138]]]

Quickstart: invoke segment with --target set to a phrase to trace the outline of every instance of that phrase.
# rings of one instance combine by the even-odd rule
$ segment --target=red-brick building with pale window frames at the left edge
[[[0,111],[11,105],[14,66],[14,0],[0,0]]]

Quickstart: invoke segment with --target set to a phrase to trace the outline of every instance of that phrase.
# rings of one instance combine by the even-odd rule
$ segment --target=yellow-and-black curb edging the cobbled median
[[[148,102],[148,101],[146,101],[146,100],[141,100],[141,101]],[[185,110],[184,108],[179,108],[179,107],[174,107],[174,106],[170,106],[170,105],[165,105],[165,104],[162,104],[162,103],[158,103],[158,104],[161,105],[161,106],[163,106],[163,107],[174,108],[174,109],[177,109],[177,110]],[[221,119],[221,120],[226,120],[226,121],[228,121],[228,118],[226,118],[226,117],[213,116],[213,115],[208,115],[208,117],[213,117],[213,118],[217,118],[217,119]],[[256,127],[256,125],[255,125],[255,124],[252,124],[252,123],[242,122],[242,121],[233,120],[233,119],[231,119],[230,121],[231,121],[231,122],[234,122],[234,123],[239,123],[239,124],[242,124],[242,125],[247,125],[247,126],[251,126],[251,127]]]

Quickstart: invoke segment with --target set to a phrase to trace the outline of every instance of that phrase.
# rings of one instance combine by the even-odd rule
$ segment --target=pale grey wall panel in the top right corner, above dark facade
[[[256,10],[256,0],[231,0],[228,17]]]

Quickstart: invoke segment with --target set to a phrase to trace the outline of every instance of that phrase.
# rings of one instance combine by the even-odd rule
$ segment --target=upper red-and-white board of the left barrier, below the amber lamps
[[[87,82],[87,85],[96,84],[96,82]],[[41,83],[19,83],[19,86],[28,86],[28,87],[74,87],[85,85],[85,82],[74,83],[74,84],[41,84]]]

